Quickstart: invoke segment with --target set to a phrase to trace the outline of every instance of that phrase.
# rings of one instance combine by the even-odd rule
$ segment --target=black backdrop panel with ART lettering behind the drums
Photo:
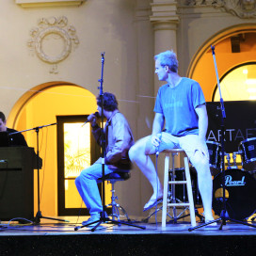
[[[220,143],[220,103],[207,103],[207,140]],[[256,137],[256,101],[226,102],[225,152],[237,152],[239,144],[250,137]]]

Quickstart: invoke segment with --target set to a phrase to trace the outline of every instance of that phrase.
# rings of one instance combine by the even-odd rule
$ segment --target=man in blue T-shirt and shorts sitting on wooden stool
[[[152,198],[144,211],[163,198],[162,184],[156,176],[150,154],[172,148],[182,148],[197,169],[205,221],[214,220],[212,214],[213,181],[206,145],[208,116],[205,99],[198,82],[178,74],[178,60],[173,51],[154,56],[155,73],[167,84],[157,93],[152,136],[138,140],[129,152],[132,161],[152,184]],[[165,124],[165,132],[163,130]],[[212,224],[215,225],[216,223]]]

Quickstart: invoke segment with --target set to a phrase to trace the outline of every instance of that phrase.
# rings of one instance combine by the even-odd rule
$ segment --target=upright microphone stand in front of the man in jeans
[[[101,147],[102,147],[102,175],[103,177],[101,178],[102,183],[103,183],[103,195],[102,195],[102,202],[103,202],[103,212],[101,212],[101,216],[100,219],[94,222],[91,222],[89,224],[80,226],[80,227],[75,227],[74,231],[77,231],[79,229],[82,229],[84,227],[88,227],[91,224],[97,223],[92,229],[91,232],[94,232],[103,222],[104,223],[113,223],[113,224],[117,224],[120,226],[120,224],[124,224],[127,226],[133,226],[136,228],[140,228],[142,230],[145,230],[145,227],[140,227],[134,224],[131,224],[129,222],[126,221],[120,221],[120,220],[114,220],[114,219],[110,219],[108,216],[105,216],[105,209],[106,209],[106,205],[105,205],[105,176],[104,176],[104,157],[105,157],[105,133],[104,133],[104,88],[103,88],[103,84],[104,84],[104,53],[102,53],[102,76],[101,79],[98,80],[98,82],[100,82],[100,87],[98,88],[100,90],[100,104],[101,104],[101,108],[102,108],[102,115],[101,115],[101,123],[102,123],[102,134],[101,134]]]

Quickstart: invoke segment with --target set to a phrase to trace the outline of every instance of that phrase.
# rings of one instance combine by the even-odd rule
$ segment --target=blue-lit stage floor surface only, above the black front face
[[[56,217],[60,218],[60,217]],[[81,218],[81,217],[80,217]],[[84,217],[85,219],[87,217]],[[9,222],[2,221],[0,224],[0,236],[8,235],[65,235],[65,234],[86,234],[92,232],[91,229],[93,226],[81,228],[81,219],[78,222],[77,216],[66,216],[61,217],[64,221],[51,220],[46,218],[41,218],[39,224],[20,224],[18,221]],[[110,217],[111,219],[111,217]],[[83,219],[84,220],[84,219]],[[117,220],[117,219],[116,219]],[[100,234],[137,234],[137,233],[171,233],[171,234],[200,234],[200,235],[256,235],[256,228],[250,227],[248,225],[243,225],[240,223],[234,223],[232,221],[227,221],[220,230],[220,225],[222,221],[218,221],[215,227],[208,225],[189,231],[191,228],[190,222],[178,220],[177,223],[172,223],[171,221],[167,222],[165,228],[162,228],[162,223],[159,221],[157,223],[144,223],[143,221],[132,220],[125,223],[132,224],[135,226],[128,226],[125,224],[117,225],[116,223],[105,222],[96,228],[94,233]],[[252,224],[256,227],[256,221],[245,222]],[[200,226],[202,223],[197,222],[197,226]],[[142,229],[144,227],[145,229]]]

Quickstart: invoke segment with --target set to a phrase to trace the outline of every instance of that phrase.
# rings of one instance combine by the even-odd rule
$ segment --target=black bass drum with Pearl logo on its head
[[[256,180],[240,169],[225,171],[226,209],[233,219],[243,220],[256,210]],[[222,172],[217,174],[213,183],[213,209],[220,216],[223,210]]]

